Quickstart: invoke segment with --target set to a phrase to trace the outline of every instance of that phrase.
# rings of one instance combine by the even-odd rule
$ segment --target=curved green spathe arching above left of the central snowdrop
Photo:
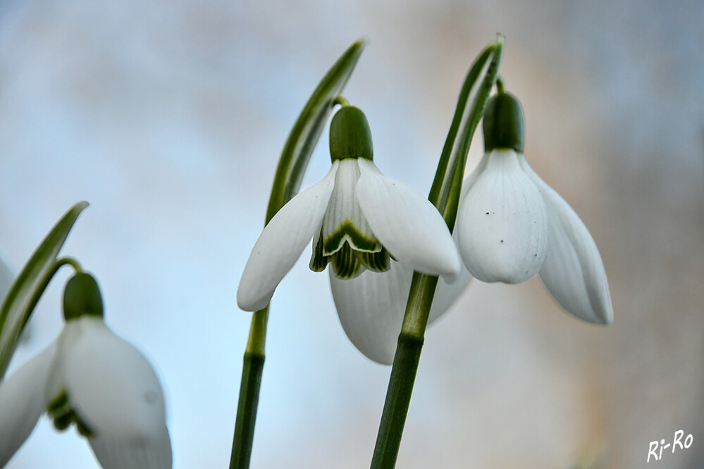
[[[298,116],[283,146],[278,168],[276,168],[271,197],[266,209],[266,223],[269,223],[273,215],[276,215],[276,212],[292,199],[301,187],[308,161],[333,110],[333,101],[347,85],[347,80],[352,75],[354,65],[357,65],[357,59],[365,45],[366,39],[359,39],[338,58]]]

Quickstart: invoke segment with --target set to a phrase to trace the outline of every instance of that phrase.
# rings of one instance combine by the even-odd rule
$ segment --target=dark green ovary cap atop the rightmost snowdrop
[[[523,153],[526,140],[526,124],[523,107],[516,96],[499,93],[489,100],[482,125],[484,151],[514,149]]]

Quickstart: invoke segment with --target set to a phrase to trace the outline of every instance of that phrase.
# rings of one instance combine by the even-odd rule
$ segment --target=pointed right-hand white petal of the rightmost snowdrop
[[[550,220],[548,258],[538,273],[555,301],[577,318],[610,324],[613,309],[599,250],[572,207],[524,162],[524,169],[543,192]]]

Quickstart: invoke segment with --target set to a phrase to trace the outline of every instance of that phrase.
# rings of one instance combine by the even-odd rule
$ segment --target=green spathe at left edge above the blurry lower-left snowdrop
[[[58,220],[27,261],[5,297],[0,308],[0,381],[5,375],[20,334],[39,301],[39,296],[51,280],[50,277],[47,278],[47,274],[56,261],[58,251],[66,242],[68,232],[78,215],[87,206],[85,201],[78,202]]]

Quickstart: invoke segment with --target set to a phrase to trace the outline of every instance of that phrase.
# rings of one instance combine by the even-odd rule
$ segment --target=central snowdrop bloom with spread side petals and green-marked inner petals
[[[237,305],[257,311],[313,239],[311,270],[331,265],[341,279],[385,272],[392,259],[430,275],[455,277],[461,261],[436,207],[373,163],[371,132],[359,108],[343,106],[330,127],[332,167],[276,213],[252,248]]]

